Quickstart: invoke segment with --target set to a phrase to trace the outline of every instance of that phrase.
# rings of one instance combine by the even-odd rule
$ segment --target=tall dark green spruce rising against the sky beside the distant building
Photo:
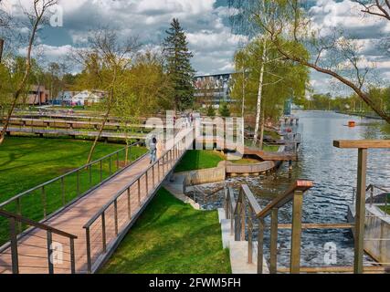
[[[195,70],[191,66],[194,57],[188,50],[188,42],[179,20],[174,18],[163,43],[166,70],[172,83],[175,110],[186,110],[194,103],[193,79]]]

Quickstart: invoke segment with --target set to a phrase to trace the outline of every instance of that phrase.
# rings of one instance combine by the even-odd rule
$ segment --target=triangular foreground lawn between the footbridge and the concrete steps
[[[216,211],[196,211],[162,189],[101,274],[230,274]]]

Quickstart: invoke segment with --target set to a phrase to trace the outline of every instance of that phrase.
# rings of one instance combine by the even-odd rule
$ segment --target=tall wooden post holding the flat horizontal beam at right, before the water
[[[354,240],[354,273],[364,272],[364,224],[365,224],[365,188],[367,170],[367,149],[359,149],[357,166],[357,193]]]

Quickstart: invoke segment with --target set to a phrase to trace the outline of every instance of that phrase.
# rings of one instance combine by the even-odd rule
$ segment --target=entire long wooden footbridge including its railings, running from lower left
[[[31,193],[19,194],[0,204],[0,219],[9,230],[8,241],[0,247],[0,274],[96,272],[121,243],[193,141],[192,128],[180,130],[174,139],[166,142],[171,146],[167,146],[157,162],[151,163],[149,155],[145,154],[52,214],[47,214],[48,186],[39,186],[45,210],[45,218],[39,222],[21,214],[21,202],[25,196],[33,195]],[[90,165],[86,169],[90,170]],[[79,192],[81,169],[77,171]],[[63,178],[60,182],[64,194]],[[56,194],[58,200],[60,193]],[[6,211],[11,204],[16,204],[16,213]]]

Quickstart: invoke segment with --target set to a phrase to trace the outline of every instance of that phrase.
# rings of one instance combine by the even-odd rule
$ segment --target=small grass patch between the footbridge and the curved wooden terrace
[[[213,168],[223,161],[225,161],[224,155],[216,151],[187,151],[182,162],[177,165],[174,172],[189,172]]]

